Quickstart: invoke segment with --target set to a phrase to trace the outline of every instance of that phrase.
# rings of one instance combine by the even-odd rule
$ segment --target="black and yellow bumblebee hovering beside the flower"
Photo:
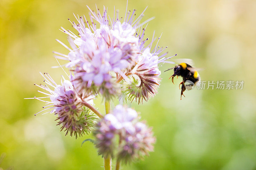
[[[194,85],[196,85],[196,83],[200,81],[200,76],[199,76],[198,72],[196,71],[196,69],[187,63],[177,64],[175,67],[169,68],[165,71],[172,70],[172,69],[174,71],[173,75],[170,77],[170,78],[172,78],[172,83],[173,83],[173,78],[175,76],[177,76],[177,78],[179,76],[181,76],[183,78],[183,81],[180,83],[180,85],[182,85],[181,86],[181,94],[180,94],[180,100],[181,100],[182,95],[184,96],[183,92],[186,90],[186,85],[184,85],[184,83],[187,80],[189,80],[189,81],[193,82]],[[180,85],[179,85],[179,88],[180,88]]]

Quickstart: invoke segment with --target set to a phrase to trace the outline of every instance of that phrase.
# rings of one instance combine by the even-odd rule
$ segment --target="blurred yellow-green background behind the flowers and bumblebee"
[[[67,53],[55,39],[67,43],[60,26],[72,29],[67,18],[88,15],[86,5],[113,16],[114,5],[124,16],[126,1],[0,0],[0,153],[7,169],[103,169],[93,144],[65,137],[54,115],[34,116],[42,102],[34,83],[39,71],[60,80],[52,51]],[[146,37],[156,30],[169,55],[191,58],[203,80],[244,80],[243,90],[191,90],[180,100],[178,84],[162,72],[159,93],[143,105],[132,103],[153,127],[155,152],[122,169],[256,169],[254,0],[129,0],[137,15],[148,6]],[[173,58],[174,59],[174,58]],[[163,64],[164,71],[171,64]],[[117,102],[116,102],[117,103]],[[104,111],[101,99],[95,104]]]

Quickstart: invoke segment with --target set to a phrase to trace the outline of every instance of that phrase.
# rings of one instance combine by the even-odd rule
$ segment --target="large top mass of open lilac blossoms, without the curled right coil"
[[[92,24],[90,25],[85,17],[75,16],[77,23],[70,22],[78,36],[62,28],[62,31],[70,36],[71,48],[57,40],[70,51],[69,54],[55,54],[60,55],[57,58],[69,61],[66,66],[74,70],[74,81],[79,92],[94,95],[101,93],[108,100],[120,91],[113,79],[120,76],[126,78],[125,73],[129,72],[138,60],[140,38],[136,36],[135,28],[141,27],[152,18],[140,24],[144,11],[137,19],[135,10],[131,15],[129,11],[127,17],[125,14],[124,21],[120,21],[118,13],[114,18],[108,19],[105,7],[102,15],[98,9],[96,12],[89,7],[88,9],[91,12],[89,20]],[[99,28],[96,23],[99,23]]]

